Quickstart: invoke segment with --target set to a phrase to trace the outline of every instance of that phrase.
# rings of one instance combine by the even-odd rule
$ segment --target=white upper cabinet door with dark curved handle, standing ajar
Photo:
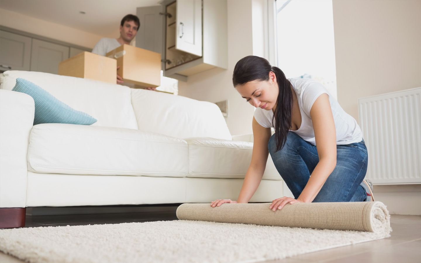
[[[202,56],[202,1],[177,1],[176,49]]]

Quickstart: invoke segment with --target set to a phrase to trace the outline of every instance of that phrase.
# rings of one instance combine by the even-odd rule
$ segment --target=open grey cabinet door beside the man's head
[[[162,53],[163,44],[163,15],[162,6],[148,6],[136,8],[140,27],[136,34],[136,47]]]

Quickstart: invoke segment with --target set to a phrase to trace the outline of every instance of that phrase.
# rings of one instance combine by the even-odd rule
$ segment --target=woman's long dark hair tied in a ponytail
[[[279,88],[277,106],[272,118],[272,125],[275,129],[276,151],[279,151],[284,146],[288,130],[291,128],[293,105],[291,83],[285,77],[284,72],[276,66],[271,66],[269,61],[264,58],[246,56],[235,65],[234,73],[232,74],[232,84],[234,87],[237,87],[253,80],[268,81],[269,72],[271,71],[276,76]]]

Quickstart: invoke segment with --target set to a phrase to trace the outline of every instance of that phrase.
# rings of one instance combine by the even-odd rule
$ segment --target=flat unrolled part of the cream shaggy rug
[[[369,232],[174,220],[2,229],[0,250],[32,263],[252,263],[382,239],[389,233],[390,227],[389,232]]]

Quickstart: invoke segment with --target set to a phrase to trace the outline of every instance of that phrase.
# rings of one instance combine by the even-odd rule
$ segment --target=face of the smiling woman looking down
[[[253,80],[244,85],[237,85],[235,89],[256,108],[260,107],[266,111],[276,108],[279,88],[273,72],[269,72],[268,81]]]

